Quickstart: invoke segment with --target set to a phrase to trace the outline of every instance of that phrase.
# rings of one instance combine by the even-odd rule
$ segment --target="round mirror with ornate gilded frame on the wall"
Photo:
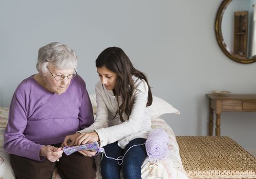
[[[215,21],[222,51],[239,63],[256,61],[256,0],[224,0]]]

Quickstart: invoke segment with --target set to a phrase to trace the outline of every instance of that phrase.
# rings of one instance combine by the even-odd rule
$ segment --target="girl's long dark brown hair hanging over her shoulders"
[[[116,115],[118,114],[120,116],[121,122],[124,122],[122,118],[123,113],[128,116],[128,119],[132,113],[134,102],[133,92],[135,87],[132,79],[133,75],[145,80],[147,83],[148,96],[146,107],[152,104],[152,93],[145,74],[134,68],[132,62],[122,49],[118,47],[109,47],[103,50],[96,59],[96,67],[101,68],[102,66],[105,66],[108,70],[117,74],[115,95],[119,107]],[[122,97],[122,104],[119,104],[118,98],[120,96]]]

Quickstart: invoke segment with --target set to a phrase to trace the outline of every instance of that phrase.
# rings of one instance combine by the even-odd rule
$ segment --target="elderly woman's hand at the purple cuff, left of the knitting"
[[[39,152],[40,156],[46,156],[46,158],[51,162],[59,161],[61,158],[63,150],[61,147],[57,148],[51,145],[42,146]]]

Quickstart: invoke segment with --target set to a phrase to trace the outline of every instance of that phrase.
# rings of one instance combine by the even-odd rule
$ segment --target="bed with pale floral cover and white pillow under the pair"
[[[97,113],[95,95],[90,95],[93,105],[94,114]],[[186,172],[183,168],[182,161],[179,154],[179,146],[176,141],[175,133],[172,128],[163,120],[161,116],[167,113],[179,114],[179,111],[172,105],[162,100],[161,98],[153,96],[153,104],[149,107],[152,128],[162,128],[168,134],[168,151],[167,156],[162,161],[150,161],[148,157],[145,159],[141,167],[141,175],[143,179],[146,178],[172,178],[172,179],[187,179]],[[9,160],[9,154],[3,148],[3,133],[8,123],[9,108],[0,107],[0,178],[12,179],[15,178]],[[96,178],[101,179],[99,172],[100,155],[95,156],[97,165]],[[60,179],[57,170],[54,170],[54,179]]]

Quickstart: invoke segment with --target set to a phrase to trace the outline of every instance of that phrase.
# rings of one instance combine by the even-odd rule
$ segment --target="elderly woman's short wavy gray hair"
[[[38,50],[37,71],[48,73],[48,63],[56,65],[61,70],[76,69],[77,56],[75,51],[68,48],[66,44],[52,42]]]

